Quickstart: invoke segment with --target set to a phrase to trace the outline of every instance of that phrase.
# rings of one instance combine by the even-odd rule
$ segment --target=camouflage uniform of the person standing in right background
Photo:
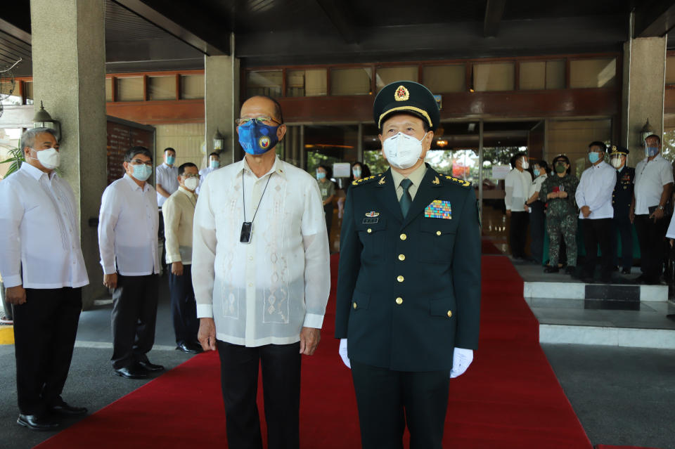
[[[546,232],[548,233],[548,265],[558,266],[560,261],[560,235],[565,240],[567,252],[567,266],[577,266],[577,204],[574,194],[577,193],[579,180],[576,176],[565,174],[560,178],[552,174],[541,185],[539,197],[546,201]],[[567,198],[548,198],[551,192],[558,192],[560,188],[567,192]]]

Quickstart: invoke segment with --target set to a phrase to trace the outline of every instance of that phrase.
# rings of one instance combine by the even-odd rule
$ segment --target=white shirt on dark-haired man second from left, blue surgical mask
[[[159,213],[155,189],[136,184],[131,176],[103,191],[98,216],[98,250],[103,273],[144,276],[160,272]]]

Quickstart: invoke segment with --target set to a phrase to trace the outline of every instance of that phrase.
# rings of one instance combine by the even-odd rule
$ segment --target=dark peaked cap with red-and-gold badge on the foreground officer
[[[397,81],[387,84],[375,97],[373,120],[382,128],[388,116],[397,112],[420,117],[434,131],[441,115],[434,95],[422,84],[412,81]]]

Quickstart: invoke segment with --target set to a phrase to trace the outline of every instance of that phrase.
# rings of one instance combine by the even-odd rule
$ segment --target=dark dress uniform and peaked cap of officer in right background
[[[623,147],[612,146],[611,154],[626,155],[626,164],[629,151]],[[633,265],[633,223],[631,223],[630,210],[633,199],[633,183],[635,181],[635,169],[624,164],[617,170],[617,183],[612,194],[612,207],[614,207],[614,219],[612,220],[612,244],[615,249],[614,265],[619,265],[617,254],[617,233],[621,239],[621,266],[624,274],[631,270]]]

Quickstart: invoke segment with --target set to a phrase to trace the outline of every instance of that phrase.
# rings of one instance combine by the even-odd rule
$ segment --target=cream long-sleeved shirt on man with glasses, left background
[[[179,187],[162,206],[167,263],[192,263],[192,226],[197,196]]]

